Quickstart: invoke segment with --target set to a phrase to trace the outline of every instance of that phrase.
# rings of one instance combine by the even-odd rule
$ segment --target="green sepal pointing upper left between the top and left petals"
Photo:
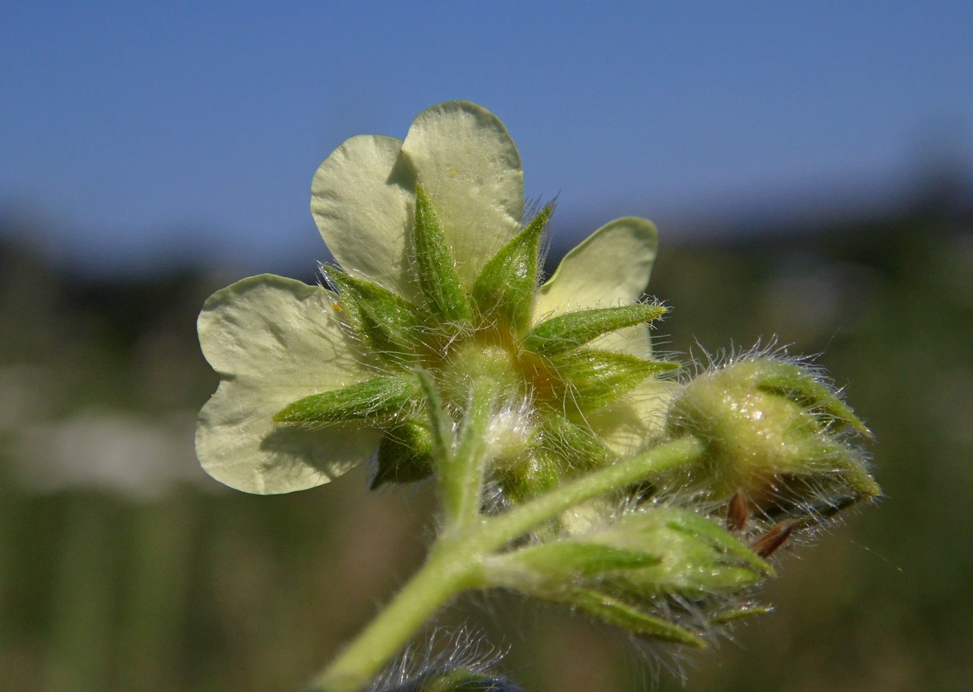
[[[420,341],[430,316],[374,281],[329,268],[338,289],[345,323],[372,350],[393,363],[413,363],[424,349]]]

